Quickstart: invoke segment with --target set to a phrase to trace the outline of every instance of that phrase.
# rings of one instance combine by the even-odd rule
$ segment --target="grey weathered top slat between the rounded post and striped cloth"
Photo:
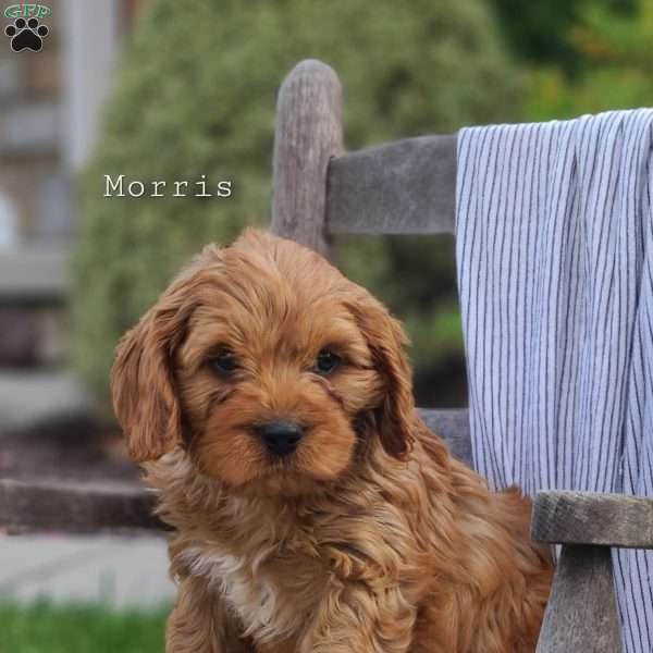
[[[336,157],[330,233],[454,233],[456,135],[421,136]]]

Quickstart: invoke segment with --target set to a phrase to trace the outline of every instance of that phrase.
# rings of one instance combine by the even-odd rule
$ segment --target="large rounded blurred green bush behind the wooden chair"
[[[102,395],[119,336],[189,255],[268,222],[275,95],[305,58],[341,75],[350,149],[520,114],[519,75],[482,0],[148,2],[81,181],[74,364]],[[104,198],[106,174],[206,174],[234,194]],[[460,355],[451,242],[356,238],[338,261],[408,319],[420,366]]]

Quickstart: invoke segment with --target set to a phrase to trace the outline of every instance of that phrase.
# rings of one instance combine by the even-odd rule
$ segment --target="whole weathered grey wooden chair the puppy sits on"
[[[346,153],[335,72],[299,63],[279,94],[271,230],[329,256],[337,233],[454,233],[456,136],[427,136]],[[466,410],[421,410],[471,465]],[[0,481],[0,527],[98,532],[164,527],[141,486]],[[539,653],[621,650],[611,546],[653,549],[653,500],[543,492],[532,535],[562,544]]]

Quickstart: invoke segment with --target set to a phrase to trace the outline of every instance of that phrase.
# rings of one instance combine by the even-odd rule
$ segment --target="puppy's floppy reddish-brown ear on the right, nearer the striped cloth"
[[[412,381],[410,366],[403,347],[409,344],[401,322],[367,291],[349,305],[360,332],[365,336],[374,366],[385,382],[385,394],[375,410],[383,448],[403,459],[412,448]]]

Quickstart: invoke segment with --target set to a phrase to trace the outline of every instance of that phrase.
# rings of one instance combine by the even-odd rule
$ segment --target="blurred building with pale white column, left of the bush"
[[[42,4],[52,13],[39,52],[14,52],[4,35],[11,20],[0,13],[0,336],[8,324],[39,333],[35,365],[65,359],[74,177],[94,146],[138,0]],[[0,367],[11,359],[0,345]]]

